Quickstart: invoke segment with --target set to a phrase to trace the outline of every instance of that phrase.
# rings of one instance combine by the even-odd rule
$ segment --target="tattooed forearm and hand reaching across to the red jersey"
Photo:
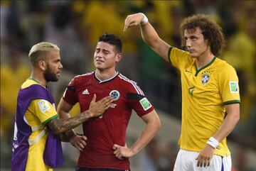
[[[47,123],[47,126],[53,131],[55,134],[64,133],[81,123],[87,121],[89,118],[100,116],[110,107],[113,99],[110,96],[106,96],[100,101],[95,101],[96,95],[93,96],[92,101],[90,102],[90,109],[82,112],[78,116],[72,118],[56,118]]]

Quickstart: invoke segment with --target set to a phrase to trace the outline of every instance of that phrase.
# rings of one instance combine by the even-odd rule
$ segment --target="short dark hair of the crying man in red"
[[[122,40],[117,35],[104,33],[100,36],[98,42],[105,42],[110,45],[114,45],[117,53],[122,53]]]

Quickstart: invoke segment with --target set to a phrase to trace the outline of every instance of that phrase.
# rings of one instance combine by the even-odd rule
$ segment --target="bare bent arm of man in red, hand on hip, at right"
[[[159,131],[161,122],[155,110],[151,111],[145,116],[142,116],[142,119],[146,123],[146,127],[144,128],[144,131],[142,131],[142,135],[139,137],[139,139],[134,143],[134,145],[132,145],[132,148],[114,144],[114,155],[116,155],[117,158],[130,158],[136,155],[139,150],[142,150],[142,148],[144,148],[149,141],[154,138],[157,131]]]

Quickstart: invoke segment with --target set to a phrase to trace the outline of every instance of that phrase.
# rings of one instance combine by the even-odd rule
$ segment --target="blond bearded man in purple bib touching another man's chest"
[[[73,118],[58,118],[53,96],[47,82],[56,82],[60,77],[60,50],[53,43],[38,43],[29,52],[33,65],[31,77],[21,85],[18,92],[14,144],[11,160],[12,171],[53,170],[62,165],[63,156],[60,137],[89,118],[100,116],[110,107],[112,98],[100,101],[92,97],[90,108]],[[76,135],[75,135],[76,136]],[[78,136],[80,146],[85,137]],[[82,140],[83,139],[83,140]]]

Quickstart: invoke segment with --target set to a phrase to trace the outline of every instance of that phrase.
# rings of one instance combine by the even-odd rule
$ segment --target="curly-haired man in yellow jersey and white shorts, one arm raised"
[[[230,171],[226,137],[240,118],[235,69],[220,60],[225,40],[209,16],[198,14],[181,23],[182,45],[171,47],[159,38],[144,13],[127,16],[124,31],[139,26],[144,42],[181,72],[181,137],[174,171]]]

